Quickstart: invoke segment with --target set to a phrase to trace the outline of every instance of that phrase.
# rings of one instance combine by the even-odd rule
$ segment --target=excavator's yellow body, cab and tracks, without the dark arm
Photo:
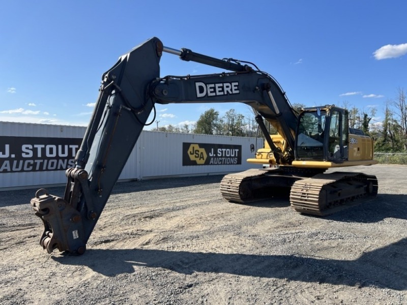
[[[348,127],[345,109],[334,105],[300,109],[294,159],[283,136],[265,135],[265,147],[247,161],[274,168],[226,175],[220,187],[226,199],[248,203],[289,188],[290,204],[296,211],[325,216],[348,203],[376,196],[375,176],[355,172],[324,174],[328,168],[377,163],[372,160],[372,139],[362,130]]]

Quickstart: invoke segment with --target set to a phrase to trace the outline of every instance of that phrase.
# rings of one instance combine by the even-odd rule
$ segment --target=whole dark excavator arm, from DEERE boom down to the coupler
[[[160,78],[163,52],[232,72]],[[54,249],[84,253],[115,182],[150,113],[153,110],[155,113],[155,103],[212,102],[251,106],[264,130],[263,117],[287,141],[288,154],[283,156],[270,139],[269,145],[278,160],[283,164],[292,162],[297,113],[269,74],[254,71],[237,60],[166,48],[158,38],[152,38],[121,56],[103,74],[98,101],[75,157],[75,168],[66,171],[64,198],[40,189],[31,200],[35,214],[44,223],[40,239],[43,249],[48,253]]]

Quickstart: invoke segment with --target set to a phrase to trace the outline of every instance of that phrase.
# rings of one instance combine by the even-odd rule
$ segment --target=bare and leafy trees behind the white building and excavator
[[[397,153],[407,151],[407,104],[406,93],[403,88],[397,88],[397,96],[384,103],[384,119],[377,121],[377,109],[359,109],[348,102],[339,105],[348,110],[349,126],[361,129],[374,140],[374,149],[377,152]],[[294,109],[305,107],[302,104],[293,105]],[[266,124],[267,125],[267,124]],[[271,134],[276,133],[271,126]],[[214,108],[203,112],[194,125],[185,124],[182,127],[167,125],[152,130],[164,132],[196,133],[207,135],[222,135],[236,137],[255,137],[257,123],[254,114],[245,116],[230,109],[225,115],[220,116]],[[259,132],[258,136],[262,136]]]

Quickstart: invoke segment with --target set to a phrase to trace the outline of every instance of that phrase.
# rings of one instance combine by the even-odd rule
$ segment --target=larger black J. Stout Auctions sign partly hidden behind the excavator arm
[[[74,167],[81,141],[78,138],[0,137],[0,173]]]

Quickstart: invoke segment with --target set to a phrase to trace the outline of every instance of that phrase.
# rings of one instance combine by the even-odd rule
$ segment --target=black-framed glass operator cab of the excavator
[[[335,106],[305,108],[298,120],[296,160],[348,159],[348,112]]]

